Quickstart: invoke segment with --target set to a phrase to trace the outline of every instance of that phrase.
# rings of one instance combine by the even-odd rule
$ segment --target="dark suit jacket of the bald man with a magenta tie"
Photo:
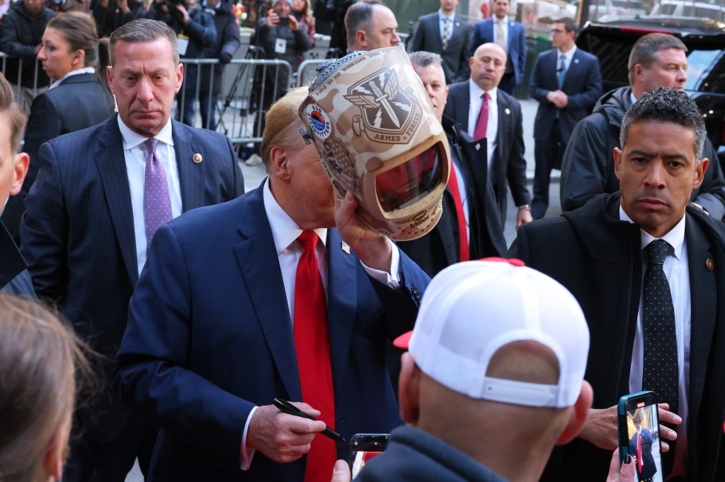
[[[497,90],[498,133],[496,152],[489,172],[489,179],[494,188],[501,222],[506,219],[506,182],[511,190],[516,206],[531,202],[526,187],[526,159],[523,158],[523,121],[521,104],[505,93]],[[471,90],[468,80],[450,86],[448,102],[443,114],[461,125],[463,132],[468,131],[468,110],[471,109]],[[476,139],[477,140],[477,139]],[[479,151],[481,162],[486,163],[486,153]]]

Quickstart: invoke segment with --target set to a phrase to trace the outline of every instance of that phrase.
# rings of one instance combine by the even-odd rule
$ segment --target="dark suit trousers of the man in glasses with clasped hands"
[[[561,168],[566,144],[561,138],[559,121],[555,120],[547,139],[534,141],[534,200],[531,201],[531,217],[542,219],[549,207],[549,182],[551,170]]]

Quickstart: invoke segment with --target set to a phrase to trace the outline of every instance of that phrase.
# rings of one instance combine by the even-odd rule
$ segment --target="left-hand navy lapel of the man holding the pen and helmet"
[[[243,212],[244,221],[239,224],[241,241],[234,245],[234,253],[287,394],[292,400],[301,400],[292,321],[261,188],[249,196]]]

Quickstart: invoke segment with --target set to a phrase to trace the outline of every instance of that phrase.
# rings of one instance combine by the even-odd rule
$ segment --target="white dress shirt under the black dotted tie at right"
[[[689,264],[687,258],[687,241],[684,239],[684,226],[686,216],[661,238],[652,237],[645,231],[642,234],[642,250],[650,242],[661,239],[670,245],[671,250],[665,258],[663,271],[670,285],[672,305],[675,314],[675,334],[677,338],[677,365],[679,367],[679,407],[677,415],[682,418],[682,424],[677,427],[676,457],[672,473],[685,475],[685,461],[687,460],[687,389],[689,387],[689,342],[690,324],[692,321],[692,303],[689,290]],[[621,221],[632,221],[619,208]],[[642,327],[643,313],[645,312],[644,284],[645,273],[649,260],[647,253],[642,253],[642,286],[639,291],[639,311],[637,312],[637,331],[634,334],[634,347],[632,347],[632,360],[629,368],[629,392],[642,391],[642,370],[645,365],[645,334]]]

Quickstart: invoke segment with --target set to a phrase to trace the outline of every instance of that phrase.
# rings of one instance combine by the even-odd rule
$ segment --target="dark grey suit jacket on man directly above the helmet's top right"
[[[440,54],[443,58],[446,83],[463,82],[471,76],[471,69],[468,67],[468,39],[471,37],[471,28],[467,22],[455,17],[448,46],[444,49],[438,14],[439,12],[433,12],[418,19],[418,28],[413,33],[413,40],[407,46],[407,51]]]

